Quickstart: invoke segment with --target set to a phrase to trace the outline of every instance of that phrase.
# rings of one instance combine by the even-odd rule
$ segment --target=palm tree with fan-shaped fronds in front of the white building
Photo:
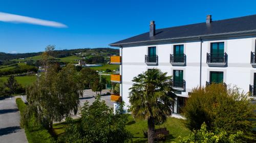
[[[172,115],[174,93],[170,76],[159,69],[151,69],[133,78],[130,88],[130,111],[135,119],[147,120],[147,139],[154,142],[155,122],[164,122]]]

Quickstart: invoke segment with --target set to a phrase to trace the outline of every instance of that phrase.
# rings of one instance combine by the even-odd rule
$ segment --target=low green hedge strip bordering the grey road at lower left
[[[23,102],[21,98],[16,98],[16,104],[20,111],[21,120],[24,120],[24,112],[26,112],[27,105]],[[27,119],[28,120],[28,119]],[[51,134],[41,125],[35,123],[35,119],[29,119],[27,125],[23,125],[23,121],[20,121],[21,127],[25,128],[25,133],[29,143],[54,143],[55,140]]]

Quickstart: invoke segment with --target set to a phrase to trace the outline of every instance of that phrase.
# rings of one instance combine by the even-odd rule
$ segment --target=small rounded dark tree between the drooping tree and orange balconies
[[[99,78],[98,73],[91,68],[82,68],[80,80],[84,87],[91,87],[93,82]]]

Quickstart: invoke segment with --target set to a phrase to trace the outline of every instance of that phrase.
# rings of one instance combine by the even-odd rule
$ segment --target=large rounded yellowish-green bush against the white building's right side
[[[253,139],[255,105],[237,87],[211,84],[196,88],[183,108],[186,125],[190,130],[200,129],[205,123],[210,131],[226,131],[228,135],[243,131],[244,138]]]

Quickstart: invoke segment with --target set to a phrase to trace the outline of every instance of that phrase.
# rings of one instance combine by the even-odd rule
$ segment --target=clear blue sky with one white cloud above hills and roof
[[[110,47],[156,28],[256,14],[256,1],[0,1],[0,52]]]

